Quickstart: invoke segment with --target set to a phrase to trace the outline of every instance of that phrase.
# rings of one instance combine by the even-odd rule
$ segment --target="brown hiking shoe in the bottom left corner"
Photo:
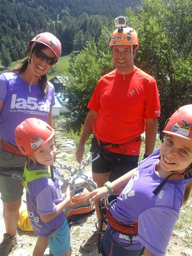
[[[13,237],[11,237],[9,234],[4,233],[3,241],[2,243],[0,243],[0,256],[8,256],[11,249],[17,244],[17,241],[17,231]]]

